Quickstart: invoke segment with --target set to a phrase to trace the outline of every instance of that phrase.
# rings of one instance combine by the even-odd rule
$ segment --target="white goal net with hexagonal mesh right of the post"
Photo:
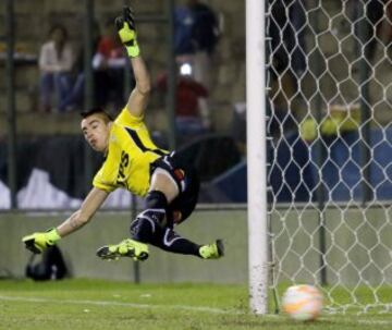
[[[392,0],[266,1],[272,289],[392,309]]]

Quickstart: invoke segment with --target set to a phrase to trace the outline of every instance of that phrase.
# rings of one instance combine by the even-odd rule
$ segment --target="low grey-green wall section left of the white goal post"
[[[24,249],[21,237],[33,231],[57,225],[68,215],[2,213],[0,217],[0,269],[8,269],[16,277],[24,274],[29,253]],[[64,239],[59,247],[64,254],[74,277],[133,279],[133,262],[102,261],[95,256],[105,244],[118,243],[128,235],[130,213],[99,212],[91,223]],[[201,260],[196,257],[171,255],[151,248],[148,261],[140,264],[142,281],[151,282],[244,282],[246,280],[246,227],[245,212],[199,211],[177,228],[179,233],[198,243],[216,239],[226,242],[228,257],[221,260]],[[238,225],[236,225],[238,224]]]

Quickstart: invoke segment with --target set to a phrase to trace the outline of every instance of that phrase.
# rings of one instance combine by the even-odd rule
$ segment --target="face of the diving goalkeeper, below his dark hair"
[[[91,148],[99,152],[106,152],[109,145],[109,134],[111,121],[107,121],[99,113],[93,113],[82,120],[82,132],[91,146]]]

